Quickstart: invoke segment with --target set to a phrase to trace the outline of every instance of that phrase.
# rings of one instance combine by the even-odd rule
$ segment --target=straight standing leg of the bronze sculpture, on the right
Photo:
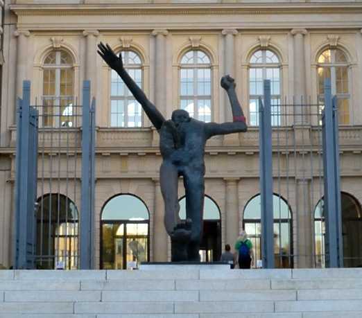
[[[200,242],[202,239],[202,214],[204,211],[204,175],[191,170],[184,175],[186,193],[186,217],[192,221],[191,240],[187,247],[188,260],[200,261]]]

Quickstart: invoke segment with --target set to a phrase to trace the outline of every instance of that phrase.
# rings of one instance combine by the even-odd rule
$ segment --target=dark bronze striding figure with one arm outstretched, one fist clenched
[[[202,212],[205,196],[204,152],[207,139],[218,134],[245,132],[247,125],[243,110],[236,96],[234,79],[221,78],[223,87],[232,105],[233,122],[205,123],[189,116],[183,109],[173,111],[171,120],[166,121],[155,105],[128,75],[119,57],[108,44],[98,44],[98,54],[117,71],[128,89],[141,104],[160,133],[162,165],[160,167],[160,186],[164,198],[164,224],[171,237],[172,261],[199,261],[200,240],[202,238]],[[182,176],[186,194],[186,217],[180,221],[178,212],[178,177]]]

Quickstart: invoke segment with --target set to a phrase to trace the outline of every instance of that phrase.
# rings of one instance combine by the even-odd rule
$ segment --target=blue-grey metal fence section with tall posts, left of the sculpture
[[[83,105],[77,98],[47,96],[31,106],[30,82],[24,82],[17,122],[15,268],[92,267],[95,103],[89,103],[89,90],[85,81]],[[36,164],[21,166],[24,160]],[[24,250],[24,235],[31,251]]]

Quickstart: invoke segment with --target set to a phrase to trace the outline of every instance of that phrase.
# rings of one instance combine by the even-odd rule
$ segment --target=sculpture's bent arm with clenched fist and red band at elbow
[[[232,134],[233,132],[246,132],[248,130],[243,109],[236,96],[235,86],[234,78],[228,75],[221,78],[221,87],[227,91],[229,96],[233,121],[232,123],[207,123],[205,129],[208,138],[217,134]]]

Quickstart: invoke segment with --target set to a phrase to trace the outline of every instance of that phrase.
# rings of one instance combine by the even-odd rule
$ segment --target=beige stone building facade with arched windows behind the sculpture
[[[139,113],[137,105],[125,108],[126,101],[132,98],[117,90],[121,89],[121,83],[96,54],[98,42],[106,42],[117,53],[125,53],[129,69],[134,70],[147,96],[167,118],[174,109],[184,107],[202,120],[230,121],[230,105],[219,80],[225,73],[235,78],[250,129],[245,134],[211,139],[205,154],[205,193],[220,212],[218,253],[225,243],[233,244],[245,227],[245,206],[259,193],[257,109],[253,98],[262,95],[255,87],[259,87],[263,78],[272,78],[276,100],[285,96],[288,100],[294,98],[297,104],[302,103],[301,98],[311,104],[318,103],[322,95],[320,78],[330,77],[334,82],[332,90],[334,87],[334,94],[342,100],[341,190],[351,197],[355,218],[361,221],[361,1],[12,0],[5,4],[4,18],[6,62],[0,124],[0,263],[3,265],[12,264],[15,102],[21,96],[23,80],[31,80],[34,104],[57,94],[82,100],[83,80],[92,82],[97,126],[95,266],[103,267],[102,211],[108,200],[122,194],[134,195],[146,205],[148,259],[162,261],[170,257],[162,222],[159,136],[150,127],[148,118]],[[60,69],[60,79],[52,69]],[[58,87],[57,81],[60,81],[58,93],[46,91]],[[302,130],[307,129],[306,136],[313,138],[311,127],[318,122],[309,120],[308,127],[303,123]],[[298,127],[294,121],[289,126],[291,134],[298,134]],[[295,140],[298,142],[298,138]],[[316,161],[318,150],[313,151],[311,158]],[[282,155],[286,152],[288,149]],[[302,158],[303,152],[298,150],[296,155]],[[49,152],[46,160],[52,156]],[[63,167],[67,158],[60,158]],[[304,177],[293,171],[288,180],[282,177],[282,190],[275,183],[275,193],[284,197],[291,213],[286,217],[290,224],[286,245],[288,254],[293,254],[288,266],[294,267],[318,265],[314,213],[321,196],[317,186],[311,188],[318,175],[313,175],[310,167],[305,171]],[[80,179],[72,182],[79,183]],[[293,185],[288,193],[287,182]],[[65,183],[64,178],[59,182],[62,195]],[[184,195],[182,191],[180,181],[180,197]],[[44,190],[40,182],[38,193],[58,191],[51,191],[47,183]],[[298,203],[300,195],[307,197],[302,205]],[[68,197],[81,211],[79,191]],[[356,224],[350,229],[360,231],[361,222]],[[357,240],[361,242],[361,235]],[[354,251],[354,257],[360,260],[361,246]]]

